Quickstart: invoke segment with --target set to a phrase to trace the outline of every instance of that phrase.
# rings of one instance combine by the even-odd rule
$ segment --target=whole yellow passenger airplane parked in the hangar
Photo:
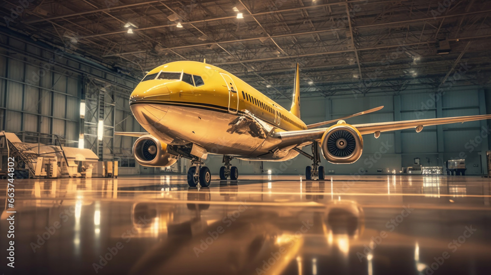
[[[356,162],[363,151],[363,135],[424,126],[490,119],[491,115],[432,118],[350,125],[343,119],[374,112],[383,106],[336,120],[306,125],[300,119],[299,65],[293,102],[286,110],[231,73],[205,62],[177,61],[151,70],[130,96],[130,108],[148,132],[115,132],[138,137],[133,154],[144,166],[173,165],[178,158],[192,162],[190,186],[210,185],[210,169],[202,160],[223,155],[220,179],[237,180],[232,158],[248,161],[286,161],[299,154],[313,161],[307,180],[324,179],[319,147],[333,164]],[[327,128],[317,128],[328,124]],[[310,145],[312,154],[301,150]]]

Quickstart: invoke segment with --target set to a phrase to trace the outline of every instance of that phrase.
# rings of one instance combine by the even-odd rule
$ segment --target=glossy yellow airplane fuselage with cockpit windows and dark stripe
[[[284,161],[299,145],[271,134],[305,130],[300,118],[218,67],[171,62],[150,71],[130,97],[136,120],[167,144],[194,143],[211,154]]]

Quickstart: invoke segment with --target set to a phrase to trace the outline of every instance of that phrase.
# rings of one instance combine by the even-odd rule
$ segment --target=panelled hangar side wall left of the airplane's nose
[[[137,81],[109,67],[72,55],[77,45],[67,41],[55,49],[0,29],[0,129],[24,132],[25,142],[52,143],[53,135],[70,147],[92,149],[101,160],[119,160],[120,173],[130,167],[136,138],[114,137],[114,131],[142,131],[131,115],[129,95]],[[81,119],[81,102],[85,118]],[[103,120],[104,137],[97,137]],[[38,134],[40,133],[40,134]],[[50,137],[50,138],[48,138]],[[134,162],[133,162],[133,166]]]

